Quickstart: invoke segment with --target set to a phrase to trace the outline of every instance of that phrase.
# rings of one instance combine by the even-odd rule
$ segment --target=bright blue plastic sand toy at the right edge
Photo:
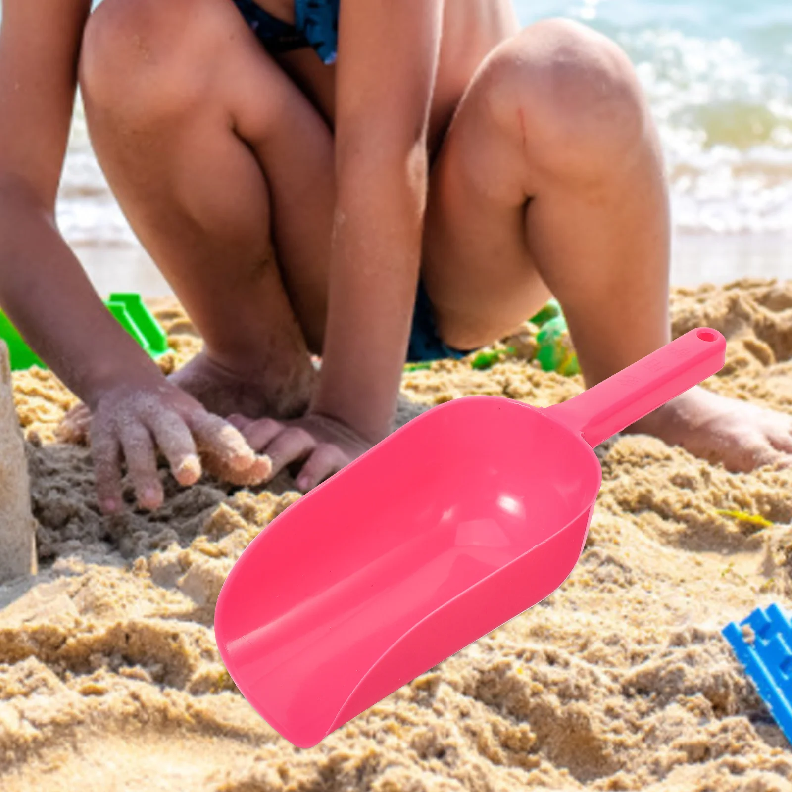
[[[742,626],[753,630],[746,640]],[[775,722],[792,743],[792,624],[781,608],[772,604],[763,611],[756,608],[740,624],[727,624],[725,639],[745,666],[759,695],[770,708]]]

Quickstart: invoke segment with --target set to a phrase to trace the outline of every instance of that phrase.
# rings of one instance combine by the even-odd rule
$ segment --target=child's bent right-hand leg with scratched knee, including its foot
[[[670,338],[661,149],[626,55],[570,22],[531,26],[474,77],[432,172],[423,277],[443,340],[489,343],[562,303],[588,386]],[[747,469],[792,419],[696,388],[635,431]]]

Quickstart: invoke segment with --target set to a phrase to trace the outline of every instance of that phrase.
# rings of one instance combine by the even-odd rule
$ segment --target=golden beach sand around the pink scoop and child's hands
[[[792,284],[677,290],[676,334],[729,338],[706,386],[792,412]],[[157,314],[181,365],[200,348]],[[87,452],[53,442],[74,402],[14,376],[41,571],[0,588],[0,789],[212,792],[792,790],[792,754],[720,629],[792,596],[792,471],[729,474],[649,437],[600,447],[581,562],[531,611],[333,733],[293,748],[219,661],[217,593],[297,495],[166,479],[154,514],[99,515]],[[509,360],[443,361],[404,379],[401,420],[466,394],[548,406],[579,378]],[[760,515],[761,527],[719,515]]]

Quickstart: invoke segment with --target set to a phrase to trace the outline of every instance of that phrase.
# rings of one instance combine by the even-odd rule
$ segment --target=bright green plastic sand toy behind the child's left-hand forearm
[[[158,358],[168,350],[168,337],[139,294],[116,293],[109,296],[105,305],[116,321],[138,342],[151,357]],[[11,370],[21,371],[38,366],[46,368],[44,361],[25,343],[9,318],[0,310],[0,338],[6,341],[11,358]]]

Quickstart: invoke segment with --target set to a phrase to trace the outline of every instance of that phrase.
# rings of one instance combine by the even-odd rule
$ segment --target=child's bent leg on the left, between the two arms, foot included
[[[219,413],[299,413],[324,327],[325,122],[227,0],[105,0],[81,85],[109,184],[206,342],[179,383]]]

